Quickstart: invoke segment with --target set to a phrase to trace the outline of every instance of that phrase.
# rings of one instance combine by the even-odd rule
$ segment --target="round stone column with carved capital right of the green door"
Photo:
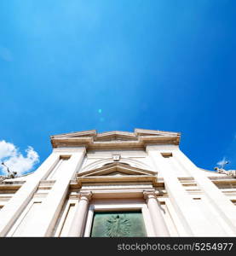
[[[156,236],[170,236],[154,191],[144,191],[143,195],[147,201]]]

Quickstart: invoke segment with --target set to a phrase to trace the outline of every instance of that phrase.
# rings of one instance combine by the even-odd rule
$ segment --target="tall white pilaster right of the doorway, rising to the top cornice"
[[[153,164],[158,173],[164,178],[164,186],[170,197],[170,201],[181,219],[187,236],[216,236],[216,230],[212,227],[203,212],[194,204],[193,199],[187,195],[182,187],[176,173],[161,154],[164,148],[159,146],[147,146],[147,153],[153,160]],[[176,150],[176,148],[174,149]],[[218,234],[221,236],[220,234]]]

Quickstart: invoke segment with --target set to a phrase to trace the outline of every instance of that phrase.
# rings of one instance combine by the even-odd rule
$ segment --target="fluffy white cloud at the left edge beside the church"
[[[39,161],[39,156],[32,147],[28,146],[25,151],[26,156],[21,154],[19,148],[16,148],[13,143],[0,141],[0,160],[9,167],[11,172],[17,172],[17,176],[31,171],[32,167]],[[3,165],[0,166],[1,171],[4,175],[8,174]]]

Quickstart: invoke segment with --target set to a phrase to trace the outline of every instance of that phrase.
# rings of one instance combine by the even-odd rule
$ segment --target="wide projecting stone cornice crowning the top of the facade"
[[[109,131],[97,133],[95,130],[77,131],[51,136],[53,148],[142,148],[147,144],[178,145],[181,134],[178,132],[135,129],[135,132]]]

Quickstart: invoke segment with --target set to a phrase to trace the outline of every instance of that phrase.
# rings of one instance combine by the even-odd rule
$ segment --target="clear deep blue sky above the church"
[[[0,140],[35,169],[50,135],[180,131],[197,166],[235,169],[235,24],[234,0],[1,0]]]

